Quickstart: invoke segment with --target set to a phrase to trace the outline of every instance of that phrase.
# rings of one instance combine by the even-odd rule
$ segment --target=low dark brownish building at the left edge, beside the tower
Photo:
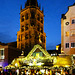
[[[5,67],[11,63],[14,58],[21,55],[21,50],[8,44],[0,43],[0,67]]]

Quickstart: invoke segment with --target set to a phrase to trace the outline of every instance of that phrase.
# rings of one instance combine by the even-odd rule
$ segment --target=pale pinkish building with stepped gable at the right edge
[[[61,53],[75,54],[75,3],[61,18]]]

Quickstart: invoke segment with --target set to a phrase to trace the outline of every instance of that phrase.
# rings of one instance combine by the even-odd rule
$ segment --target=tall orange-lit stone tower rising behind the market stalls
[[[44,14],[37,0],[27,0],[25,8],[20,11],[20,31],[17,32],[17,48],[30,51],[39,44],[46,49],[44,33]]]

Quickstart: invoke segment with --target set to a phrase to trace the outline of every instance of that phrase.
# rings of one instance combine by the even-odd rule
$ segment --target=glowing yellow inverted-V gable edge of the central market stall
[[[44,54],[46,57],[51,57],[50,54],[49,54],[46,50],[44,50],[44,49],[43,49],[40,45],[38,45],[38,44],[33,47],[33,49],[29,52],[29,54],[27,55],[27,57],[30,57],[30,56],[33,54],[33,52],[35,52],[35,51],[37,50],[37,48],[39,48],[40,51],[42,51],[43,54]]]

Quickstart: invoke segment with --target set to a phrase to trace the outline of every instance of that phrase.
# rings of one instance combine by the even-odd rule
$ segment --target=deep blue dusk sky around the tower
[[[26,0],[0,0],[0,41],[14,42],[20,30],[20,6],[24,8]],[[61,43],[61,14],[68,11],[68,6],[75,0],[38,0],[44,7],[44,32],[46,49],[55,49]]]

